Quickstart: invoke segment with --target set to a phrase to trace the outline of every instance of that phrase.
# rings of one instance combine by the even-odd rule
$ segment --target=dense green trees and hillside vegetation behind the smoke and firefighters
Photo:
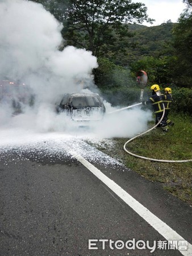
[[[138,100],[135,77],[144,70],[148,88],[152,84],[172,87],[177,99],[174,109],[191,113],[191,0],[183,0],[186,9],[178,23],[168,20],[153,27],[142,25],[144,20],[153,21],[147,7],[131,0],[33,1],[43,4],[64,25],[62,47],[86,48],[97,56],[95,84],[111,104],[127,105]]]

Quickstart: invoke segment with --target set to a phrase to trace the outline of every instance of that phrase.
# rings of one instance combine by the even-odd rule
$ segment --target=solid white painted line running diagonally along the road
[[[89,163],[85,158],[81,155],[76,155],[74,152],[72,155],[82,163],[89,171],[91,171],[99,180],[107,185],[116,195],[120,197],[126,204],[128,204],[137,214],[139,214],[145,221],[148,222],[153,228],[157,230],[166,240],[168,241],[186,241],[183,237],[177,234],[172,228],[170,228],[165,222],[161,221],[155,214],[150,212],[147,208],[145,208],[142,204],[140,204],[137,200],[135,200],[132,196],[130,196],[124,189],[122,189],[118,184],[116,184],[113,180],[109,179],[105,174],[98,170],[98,168],[94,167],[93,164]],[[187,250],[180,250],[181,254],[185,256],[192,255],[192,245],[187,242]]]

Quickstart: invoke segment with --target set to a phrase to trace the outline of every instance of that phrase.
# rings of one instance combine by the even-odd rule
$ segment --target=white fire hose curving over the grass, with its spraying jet
[[[126,108],[115,110],[114,112],[118,112],[118,111],[124,110],[124,109],[129,109],[129,108],[132,108],[133,106],[138,106],[138,105],[141,105],[141,104],[142,104],[142,102],[138,103],[138,104],[135,104],[135,105],[128,106]],[[164,106],[164,104],[163,104],[163,106]],[[114,112],[110,112],[108,114],[111,114],[111,113],[114,113]],[[155,126],[153,126],[151,129],[149,129],[147,131],[144,131],[144,133],[141,133],[141,134],[136,135],[135,137],[129,139],[123,146],[124,151],[126,151],[128,154],[130,154],[132,156],[135,156],[136,158],[141,158],[141,159],[150,160],[150,161],[154,161],[154,162],[162,162],[162,163],[187,163],[187,162],[192,162],[192,159],[187,159],[187,160],[164,160],[164,159],[146,158],[145,156],[140,156],[140,155],[133,154],[132,152],[130,152],[126,149],[127,144],[130,143],[131,141],[133,141],[133,139],[136,139],[136,138],[140,137],[141,135],[144,135],[145,133],[148,133],[149,131],[152,131],[153,129],[155,129],[155,127],[157,127],[161,123],[162,119],[164,118],[164,115],[165,115],[165,106],[164,106],[164,112],[162,113],[162,117],[161,117],[160,121],[158,121],[158,123]]]

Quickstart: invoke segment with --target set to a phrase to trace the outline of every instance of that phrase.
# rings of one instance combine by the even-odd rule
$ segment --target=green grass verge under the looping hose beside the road
[[[161,129],[134,139],[127,144],[127,150],[133,154],[147,158],[165,160],[192,159],[192,122],[189,115],[170,115],[175,125],[168,133]],[[154,125],[149,123],[149,127]],[[144,176],[146,179],[162,184],[162,187],[177,196],[179,199],[192,204],[192,162],[188,163],[161,163],[136,158],[124,151],[123,146],[130,138],[114,138],[114,148],[108,150],[105,146],[99,150],[120,159],[131,170]]]

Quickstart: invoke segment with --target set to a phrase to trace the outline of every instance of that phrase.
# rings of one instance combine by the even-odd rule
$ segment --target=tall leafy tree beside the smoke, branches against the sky
[[[35,1],[35,0],[34,0]],[[94,56],[112,56],[124,38],[132,36],[126,23],[142,23],[148,18],[147,7],[131,0],[36,0],[64,24],[66,45],[85,48]],[[63,3],[63,5],[62,5]]]

